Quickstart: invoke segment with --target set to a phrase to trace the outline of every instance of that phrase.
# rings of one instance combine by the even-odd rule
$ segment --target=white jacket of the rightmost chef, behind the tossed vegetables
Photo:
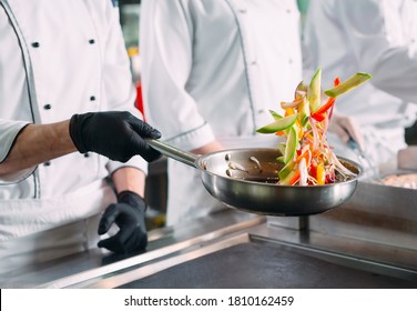
[[[416,119],[416,17],[413,0],[312,0],[304,29],[306,79],[318,67],[324,89],[335,77],[373,74],[337,98],[336,110],[359,122],[367,156],[375,163],[390,162],[386,169],[394,169],[397,151],[406,147],[404,127]],[[340,143],[332,144],[344,153]]]

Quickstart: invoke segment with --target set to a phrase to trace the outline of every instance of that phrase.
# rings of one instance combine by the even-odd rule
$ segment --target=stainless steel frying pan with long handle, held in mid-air
[[[242,211],[266,215],[307,215],[333,209],[354,193],[362,167],[339,161],[354,175],[325,185],[278,185],[282,168],[277,149],[231,149],[197,156],[159,140],[148,143],[162,154],[201,171],[208,193],[224,204]]]

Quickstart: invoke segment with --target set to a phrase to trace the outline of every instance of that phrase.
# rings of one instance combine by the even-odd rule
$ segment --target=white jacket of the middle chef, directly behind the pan
[[[184,150],[258,146],[302,80],[293,0],[144,0],[140,31],[146,120]],[[169,224],[221,207],[197,170],[169,161]]]

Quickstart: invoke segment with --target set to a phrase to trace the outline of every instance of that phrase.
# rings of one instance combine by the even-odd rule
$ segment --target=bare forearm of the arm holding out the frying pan
[[[0,163],[0,175],[24,170],[77,151],[69,133],[69,121],[29,124],[17,137],[10,153]]]

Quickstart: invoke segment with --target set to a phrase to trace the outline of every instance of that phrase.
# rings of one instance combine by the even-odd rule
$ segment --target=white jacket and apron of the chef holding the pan
[[[28,123],[101,110],[138,114],[111,1],[0,0],[0,161]],[[0,265],[95,245],[96,215],[115,200],[105,178],[122,165],[148,169],[140,157],[120,163],[74,152],[1,178]]]

